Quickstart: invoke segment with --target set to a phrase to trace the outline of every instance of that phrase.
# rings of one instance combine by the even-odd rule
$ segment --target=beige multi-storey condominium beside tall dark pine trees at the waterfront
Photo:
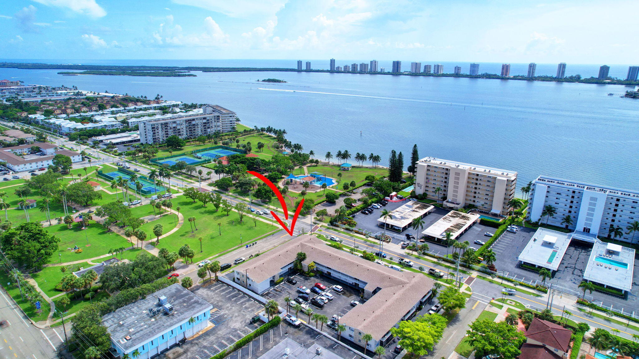
[[[417,162],[415,194],[442,200],[446,208],[474,205],[478,210],[506,215],[517,188],[517,172],[426,157]]]

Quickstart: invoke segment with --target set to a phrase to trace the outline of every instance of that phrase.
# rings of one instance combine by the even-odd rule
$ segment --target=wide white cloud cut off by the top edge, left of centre
[[[267,19],[284,8],[288,0],[173,0],[173,3],[196,6],[206,10],[217,11],[230,17],[249,17],[259,15]]]

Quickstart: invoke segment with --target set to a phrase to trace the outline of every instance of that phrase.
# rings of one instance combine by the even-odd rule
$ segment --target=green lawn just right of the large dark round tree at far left
[[[102,225],[95,223],[90,224],[87,229],[81,229],[79,224],[74,223],[70,229],[66,224],[59,224],[47,227],[47,230],[61,240],[58,244],[59,256],[54,254],[51,257],[51,263],[59,263],[60,259],[62,263],[66,263],[98,257],[108,254],[111,248],[130,246],[126,238],[114,232],[107,232]],[[89,246],[87,246],[87,242]],[[74,248],[76,245],[82,248],[81,253],[67,249]]]

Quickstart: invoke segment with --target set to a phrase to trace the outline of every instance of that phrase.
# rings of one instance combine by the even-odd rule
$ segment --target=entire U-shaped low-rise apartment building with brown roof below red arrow
[[[307,235],[236,266],[234,280],[251,291],[264,293],[275,280],[293,271],[298,252],[307,255],[302,261],[304,270],[314,263],[321,275],[360,291],[366,302],[339,319],[339,324],[346,326],[341,336],[371,351],[388,344],[393,338],[390,329],[414,316],[417,308],[431,298],[433,280],[422,273],[392,270]],[[368,343],[362,340],[366,333],[373,336]]]

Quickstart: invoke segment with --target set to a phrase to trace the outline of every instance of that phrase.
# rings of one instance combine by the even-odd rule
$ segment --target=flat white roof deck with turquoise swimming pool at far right
[[[609,250],[620,248],[620,250]],[[635,270],[635,250],[596,240],[583,271],[583,279],[630,291]]]

